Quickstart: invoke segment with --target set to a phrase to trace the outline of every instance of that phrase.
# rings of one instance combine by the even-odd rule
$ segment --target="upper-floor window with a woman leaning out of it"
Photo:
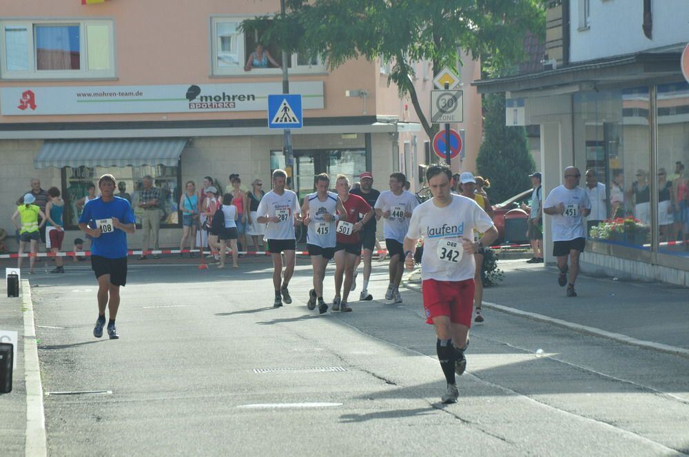
[[[282,65],[282,51],[277,43],[263,42],[263,33],[256,30],[253,34],[240,32],[240,23],[249,17],[214,18],[211,22],[212,54],[214,75],[245,75],[244,65],[256,49],[256,43],[263,44],[264,49],[279,65]],[[287,67],[298,73],[323,72],[320,56],[308,53],[297,53],[289,56]],[[252,74],[280,74],[280,68],[268,62],[267,68],[252,68]]]

